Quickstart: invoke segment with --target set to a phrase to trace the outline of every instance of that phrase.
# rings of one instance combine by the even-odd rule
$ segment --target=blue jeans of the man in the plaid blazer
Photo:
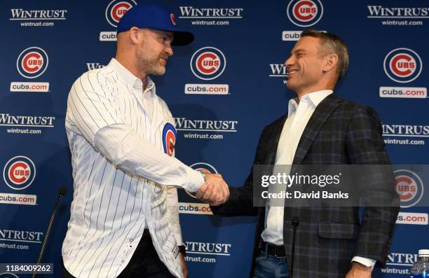
[[[275,258],[261,249],[255,260],[253,278],[289,278],[286,258]]]

